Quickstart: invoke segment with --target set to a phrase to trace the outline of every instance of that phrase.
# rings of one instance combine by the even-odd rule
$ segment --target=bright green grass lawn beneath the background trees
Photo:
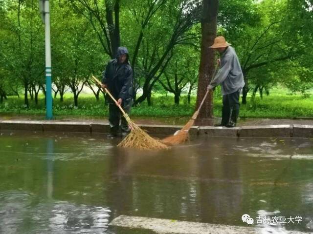
[[[78,100],[78,108],[73,106],[71,94],[66,94],[64,101],[59,98],[53,101],[54,116],[106,116],[108,107],[101,98],[96,101],[93,95],[82,94]],[[133,107],[134,117],[190,117],[194,112],[196,97],[192,96],[191,104],[187,104],[187,97],[182,96],[179,105],[174,105],[174,98],[170,95],[155,94],[152,98],[153,106],[148,106],[146,101]],[[222,99],[216,94],[214,98],[214,115],[221,116]],[[0,113],[5,114],[45,114],[44,96],[40,96],[39,104],[30,100],[29,109],[23,105],[23,98],[8,97],[0,104]],[[258,95],[253,99],[247,98],[247,104],[241,106],[242,118],[293,118],[313,117],[313,95],[290,95],[283,89],[273,89],[269,96],[261,99]]]

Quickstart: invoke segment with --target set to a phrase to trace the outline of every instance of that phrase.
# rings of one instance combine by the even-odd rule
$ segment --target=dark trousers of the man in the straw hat
[[[222,125],[226,126],[230,122],[237,123],[240,108],[239,96],[240,91],[223,95]]]

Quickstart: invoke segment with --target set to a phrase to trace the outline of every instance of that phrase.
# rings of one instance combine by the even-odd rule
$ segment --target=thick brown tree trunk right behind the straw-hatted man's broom
[[[214,72],[214,51],[210,49],[214,43],[217,30],[217,14],[219,9],[219,0],[202,0],[203,12],[201,19],[201,59],[199,68],[199,80],[197,91],[198,108],[205,93],[206,87],[212,79]],[[213,91],[209,92],[205,103],[203,104],[198,116],[197,124],[205,123],[213,125]],[[203,120],[201,120],[203,119]],[[204,119],[207,119],[205,121]]]

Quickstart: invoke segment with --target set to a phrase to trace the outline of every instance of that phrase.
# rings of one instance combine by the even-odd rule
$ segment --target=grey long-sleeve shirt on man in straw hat
[[[224,51],[218,72],[210,83],[213,87],[221,84],[222,94],[232,94],[245,86],[244,75],[233,47]]]

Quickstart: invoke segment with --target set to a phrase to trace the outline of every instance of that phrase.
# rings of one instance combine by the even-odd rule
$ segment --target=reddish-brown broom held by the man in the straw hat
[[[217,70],[218,69],[215,69],[214,74],[213,74],[213,78],[215,77]],[[189,139],[188,131],[192,127],[192,125],[194,125],[195,120],[199,115],[201,107],[202,107],[209,91],[210,91],[210,89],[206,90],[206,93],[205,93],[204,97],[202,98],[202,101],[201,101],[197,111],[193,114],[191,119],[189,119],[189,121],[186,123],[186,125],[183,126],[182,129],[180,129],[178,132],[176,132],[173,136],[165,137],[164,139],[161,140],[164,144],[166,144],[166,145],[178,145],[180,143],[186,142]]]

